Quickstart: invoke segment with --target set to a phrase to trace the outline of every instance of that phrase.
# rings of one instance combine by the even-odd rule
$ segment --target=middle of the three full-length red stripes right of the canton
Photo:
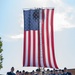
[[[47,9],[47,14],[46,14],[46,37],[47,37],[47,48],[48,48],[48,61],[49,61],[49,66],[52,68],[52,65],[51,65],[51,57],[50,57],[50,44],[49,44],[49,39],[50,39],[50,37],[49,37],[49,28],[48,28],[48,25],[50,25],[50,24],[48,24],[48,19],[49,19],[49,9]]]

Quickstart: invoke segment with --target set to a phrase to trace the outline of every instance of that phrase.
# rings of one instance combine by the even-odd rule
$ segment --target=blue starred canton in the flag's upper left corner
[[[40,10],[24,10],[24,30],[39,30]]]

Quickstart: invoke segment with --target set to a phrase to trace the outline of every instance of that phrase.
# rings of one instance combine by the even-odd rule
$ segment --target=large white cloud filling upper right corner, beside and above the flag
[[[74,7],[63,2],[63,0],[51,0],[48,6],[55,8],[54,13],[54,30],[61,31],[64,28],[75,27],[75,10]]]

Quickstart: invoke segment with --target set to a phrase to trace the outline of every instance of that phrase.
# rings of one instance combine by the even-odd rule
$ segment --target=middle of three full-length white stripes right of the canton
[[[45,44],[45,58],[46,58],[46,65],[47,67],[49,67],[49,63],[48,63],[48,48],[47,48],[47,32],[46,32],[46,15],[47,15],[47,10],[45,10],[45,15],[44,15],[44,44]]]

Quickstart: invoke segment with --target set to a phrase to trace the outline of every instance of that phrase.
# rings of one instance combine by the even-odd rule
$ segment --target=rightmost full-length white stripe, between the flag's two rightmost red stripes
[[[52,11],[52,10],[49,10],[49,24],[51,24],[51,17],[50,17],[50,16],[51,16],[51,11]],[[50,44],[50,57],[51,57],[50,60],[51,60],[51,65],[52,65],[52,67],[55,67],[55,66],[54,66],[54,62],[53,62],[52,46],[51,46],[51,25],[49,25],[48,28],[50,28],[50,29],[49,29],[49,37],[50,37],[50,38],[49,38],[49,40],[50,40],[50,41],[49,41],[49,44]]]

